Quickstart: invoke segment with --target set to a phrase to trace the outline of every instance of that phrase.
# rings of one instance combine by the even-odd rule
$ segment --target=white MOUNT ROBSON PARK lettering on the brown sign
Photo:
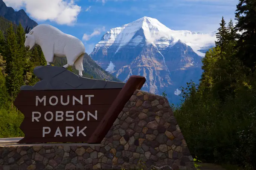
[[[65,101],[64,101],[64,97],[61,95],[60,98],[58,98],[57,96],[51,96],[49,98],[49,104],[52,106],[57,105],[59,102],[61,105],[75,105],[75,104],[81,104],[83,105],[83,99],[88,98],[88,105],[91,105],[91,98],[93,98],[94,95],[80,95],[80,98],[76,98],[75,96],[72,96],[72,99],[70,99],[70,96],[66,96]],[[43,106],[46,106],[46,96],[43,96],[42,98],[40,98],[39,96],[36,96],[35,98],[35,105],[38,106],[39,103],[43,104]],[[74,112],[72,110],[67,110],[67,111],[55,111],[54,113],[52,111],[47,111],[46,113],[44,113],[44,116],[42,116],[42,114],[39,111],[32,111],[32,122],[40,122],[40,120],[44,119],[47,122],[73,122],[74,120],[78,120],[78,121],[83,121],[83,120],[87,120],[90,121],[90,117],[92,117],[93,119],[97,120],[97,110],[94,111],[93,113],[90,113],[90,111],[77,111]],[[65,133],[65,137],[73,137],[73,135],[76,135],[77,137],[79,137],[79,135],[83,135],[86,136],[86,134],[84,133],[84,130],[87,128],[87,126],[84,127],[73,127],[73,126],[66,126],[65,129],[60,129],[59,126],[57,127],[57,129],[55,130],[54,133],[54,137],[62,137],[62,133],[64,131]],[[62,130],[62,132],[61,132]],[[76,131],[76,133],[75,133]],[[42,136],[45,137],[46,134],[50,134],[52,132],[52,129],[50,127],[47,126],[43,126],[42,129]],[[75,133],[75,134],[74,134]]]

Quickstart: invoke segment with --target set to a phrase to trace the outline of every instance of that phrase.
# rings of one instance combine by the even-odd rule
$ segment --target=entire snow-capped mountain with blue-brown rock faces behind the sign
[[[90,54],[119,80],[146,77],[142,90],[179,102],[180,86],[201,77],[201,59],[214,46],[215,34],[171,30],[157,19],[143,17],[111,29]]]

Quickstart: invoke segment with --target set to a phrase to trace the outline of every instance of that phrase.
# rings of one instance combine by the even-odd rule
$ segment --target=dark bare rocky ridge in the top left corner
[[[0,0],[0,16],[6,18],[9,21],[12,21],[14,24],[18,25],[21,23],[24,28],[26,26],[34,28],[38,25],[37,22],[27,16],[23,9],[14,11],[12,7],[7,7],[3,0]]]

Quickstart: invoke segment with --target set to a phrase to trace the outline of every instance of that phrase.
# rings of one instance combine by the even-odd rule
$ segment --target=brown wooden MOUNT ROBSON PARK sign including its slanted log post
[[[21,90],[14,104],[24,114],[18,143],[100,143],[145,78],[122,89]]]

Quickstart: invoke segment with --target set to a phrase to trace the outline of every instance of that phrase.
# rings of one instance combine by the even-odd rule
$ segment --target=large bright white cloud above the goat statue
[[[26,12],[35,20],[50,20],[62,25],[75,23],[81,12],[81,6],[76,5],[74,0],[4,0],[4,2],[15,9],[25,7]]]

